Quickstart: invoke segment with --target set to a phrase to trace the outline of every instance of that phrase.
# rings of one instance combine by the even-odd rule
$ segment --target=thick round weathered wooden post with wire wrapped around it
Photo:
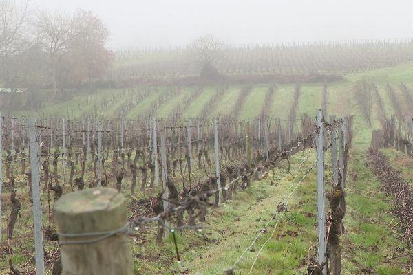
[[[56,201],[54,217],[63,274],[134,274],[125,234],[127,200],[118,190],[97,187],[67,193]]]

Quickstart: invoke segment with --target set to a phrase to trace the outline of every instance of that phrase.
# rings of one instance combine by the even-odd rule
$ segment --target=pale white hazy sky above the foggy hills
[[[98,14],[112,47],[169,46],[214,34],[224,43],[413,36],[412,0],[32,0]]]

